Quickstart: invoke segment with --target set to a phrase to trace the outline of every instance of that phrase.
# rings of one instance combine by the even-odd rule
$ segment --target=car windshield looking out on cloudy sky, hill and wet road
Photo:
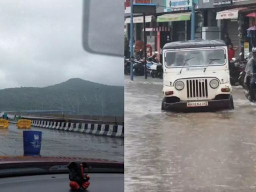
[[[0,7],[0,155],[122,162],[122,57],[83,49],[83,0]]]

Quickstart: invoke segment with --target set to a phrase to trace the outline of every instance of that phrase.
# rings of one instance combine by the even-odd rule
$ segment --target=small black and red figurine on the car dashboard
[[[69,186],[72,191],[83,191],[88,188],[90,182],[88,174],[83,174],[83,168],[87,167],[84,162],[70,162],[67,165],[69,169]]]

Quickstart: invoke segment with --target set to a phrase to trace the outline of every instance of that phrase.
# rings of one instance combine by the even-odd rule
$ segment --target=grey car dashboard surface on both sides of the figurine
[[[89,173],[88,192],[123,191],[123,173]],[[42,174],[0,178],[0,191],[4,192],[70,192],[68,174]]]

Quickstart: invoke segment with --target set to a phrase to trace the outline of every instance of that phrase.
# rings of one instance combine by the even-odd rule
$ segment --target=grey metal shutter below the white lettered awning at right
[[[231,42],[235,46],[239,46],[239,32],[238,32],[238,23],[236,21],[231,21],[230,19],[227,21],[227,33]],[[235,57],[239,56],[239,48],[235,51]]]

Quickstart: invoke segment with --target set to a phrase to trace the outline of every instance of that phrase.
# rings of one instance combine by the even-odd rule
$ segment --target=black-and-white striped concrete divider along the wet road
[[[16,119],[9,119],[10,122],[15,123]],[[92,123],[78,123],[78,122],[56,122],[45,120],[32,120],[31,125],[41,128],[58,129],[64,131],[74,131],[95,135],[106,135],[123,137],[124,126],[115,124],[92,124]]]

